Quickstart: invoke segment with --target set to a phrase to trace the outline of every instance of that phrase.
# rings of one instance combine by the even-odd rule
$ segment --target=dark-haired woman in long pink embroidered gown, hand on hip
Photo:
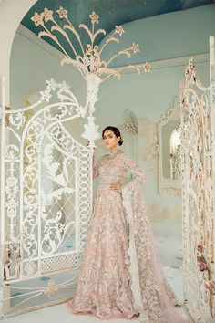
[[[170,302],[174,293],[161,273],[141,193],[145,175],[118,150],[123,141],[112,126],[102,132],[109,153],[94,168],[100,175],[87,234],[74,314],[135,318],[155,323],[185,322]],[[135,176],[127,184],[127,172]]]

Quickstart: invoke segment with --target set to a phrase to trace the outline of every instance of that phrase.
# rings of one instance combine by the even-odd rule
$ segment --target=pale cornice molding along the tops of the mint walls
[[[36,47],[39,47],[40,49],[44,50],[48,55],[56,58],[56,60],[59,62],[64,57],[63,53],[61,53],[55,47],[49,45],[44,39],[38,38],[38,36],[36,36],[32,31],[27,29],[26,26],[20,25],[17,29],[17,35],[22,36],[27,41],[34,44]],[[13,50],[13,48],[12,48],[12,50]],[[161,59],[161,60],[152,61],[149,63],[151,64],[152,71],[163,69],[163,68],[175,68],[175,67],[179,67],[179,66],[184,67],[184,66],[188,65],[190,57],[193,57],[195,64],[209,62],[209,53],[203,53],[203,54],[196,54],[196,55],[190,54],[190,56],[184,56],[184,57]],[[137,65],[141,66],[144,63],[145,62],[142,62]],[[68,65],[68,67],[72,68],[72,66],[70,66],[70,65]],[[121,66],[121,67],[123,67],[123,66]],[[132,74],[132,73],[136,73],[136,72],[133,70],[126,70],[126,71],[122,71],[122,73],[123,74]]]

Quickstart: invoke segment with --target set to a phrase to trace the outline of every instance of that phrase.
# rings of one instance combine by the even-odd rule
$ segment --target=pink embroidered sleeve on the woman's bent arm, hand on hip
[[[129,191],[133,191],[134,189],[139,188],[143,184],[143,182],[146,182],[147,177],[145,173],[138,166],[138,164],[134,160],[132,160],[131,157],[126,156],[124,165],[126,169],[132,173],[131,181],[125,185],[125,187],[128,188]],[[135,176],[134,178],[133,175]]]

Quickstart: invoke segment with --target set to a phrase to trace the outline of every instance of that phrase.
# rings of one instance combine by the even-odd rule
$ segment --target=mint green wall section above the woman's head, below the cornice
[[[197,66],[200,79],[209,84],[209,63],[199,63]],[[160,115],[169,109],[171,99],[179,96],[185,67],[152,69],[150,73],[140,75],[125,74],[119,81],[116,78],[108,79],[100,87],[96,112],[99,123],[104,126],[111,120],[119,120],[125,109],[131,109],[138,118],[147,117],[158,122]]]

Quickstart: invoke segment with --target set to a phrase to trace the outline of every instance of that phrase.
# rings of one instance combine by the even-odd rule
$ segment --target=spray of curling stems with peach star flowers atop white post
[[[137,65],[128,65],[126,67],[121,68],[111,68],[111,63],[119,56],[127,56],[131,57],[132,54],[136,54],[139,52],[138,44],[133,43],[131,47],[128,47],[123,50],[119,50],[113,57],[110,57],[108,60],[102,59],[102,53],[107,44],[110,42],[119,43],[119,37],[125,33],[125,30],[122,26],[115,26],[115,29],[107,36],[107,39],[104,41],[101,47],[98,47],[95,44],[98,35],[106,36],[105,29],[98,29],[96,26],[98,25],[99,16],[93,11],[89,18],[91,20],[91,30],[85,24],[80,24],[79,28],[84,29],[89,36],[90,43],[83,44],[81,42],[81,37],[77,32],[77,29],[72,25],[67,16],[67,10],[62,6],[58,10],[56,10],[56,14],[59,16],[61,20],[64,20],[65,24],[63,26],[59,26],[57,24],[53,11],[48,10],[47,8],[41,14],[35,13],[35,16],[31,18],[31,20],[35,23],[35,26],[42,26],[45,30],[41,31],[38,36],[39,37],[49,37],[51,38],[57,46],[61,49],[61,51],[65,54],[65,57],[62,59],[61,64],[72,64],[76,67],[83,77],[86,77],[89,73],[96,74],[101,80],[105,80],[111,76],[115,76],[118,79],[121,77],[121,71],[125,69],[134,69],[135,71],[140,73],[141,70],[144,72],[150,71],[150,65],[148,62],[143,64],[142,66]],[[46,23],[48,23],[48,27]],[[51,24],[50,24],[51,23]],[[57,33],[62,35],[69,46],[69,52],[66,49],[66,46],[62,45],[57,38]],[[76,37],[77,45],[79,50],[77,52],[77,48],[74,47],[74,44],[71,40],[71,34]],[[65,45],[66,45],[65,43]],[[71,55],[72,53],[72,55]],[[75,57],[75,58],[74,58]]]

